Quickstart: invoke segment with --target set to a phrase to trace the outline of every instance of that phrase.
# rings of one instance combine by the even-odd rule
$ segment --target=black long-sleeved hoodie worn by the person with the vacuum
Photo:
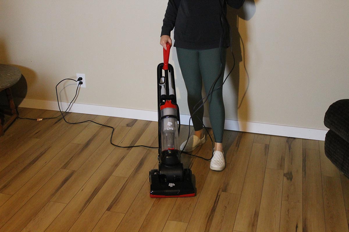
[[[174,46],[187,49],[229,47],[227,3],[240,8],[245,0],[169,0],[161,35],[174,28]],[[222,39],[221,39],[222,38]]]

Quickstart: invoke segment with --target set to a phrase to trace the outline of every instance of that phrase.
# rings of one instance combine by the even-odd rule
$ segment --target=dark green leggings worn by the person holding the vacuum
[[[206,50],[192,50],[176,48],[176,50],[180,70],[182,72],[185,87],[188,93],[188,107],[190,115],[192,116],[194,130],[196,131],[203,128],[203,107],[201,107],[193,115],[194,111],[198,109],[198,107],[202,104],[202,81],[205,86],[206,94],[208,94],[218,74],[220,74],[220,77],[218,78],[217,83],[214,87],[214,89],[216,90],[208,97],[208,102],[210,122],[213,129],[213,134],[215,136],[215,142],[222,143],[225,110],[223,103],[223,88],[220,86],[222,85],[224,78],[227,49],[214,48]],[[220,58],[221,56],[223,64],[222,66]],[[196,103],[198,104],[196,105]],[[196,107],[194,110],[195,105]]]

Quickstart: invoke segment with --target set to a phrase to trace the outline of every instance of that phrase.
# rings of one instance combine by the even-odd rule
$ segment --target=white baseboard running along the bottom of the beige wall
[[[55,101],[45,101],[45,100],[24,98],[24,99],[18,99],[17,102],[21,102],[18,105],[19,107],[44,109],[44,110],[59,110],[57,102]],[[61,102],[61,105],[63,109],[66,109],[69,103]],[[127,108],[113,107],[113,106],[74,103],[73,106],[70,108],[69,112],[98,114],[98,115],[120,117],[120,118],[132,118],[132,119],[141,119],[141,120],[148,120],[148,121],[157,121],[156,111],[134,110],[134,109],[127,109]],[[189,118],[190,118],[190,115],[181,114],[180,115],[181,124],[188,125]],[[205,117],[203,122],[206,127],[210,127],[208,118]],[[322,141],[325,140],[325,135],[328,131],[328,130],[322,130],[322,129],[283,126],[283,125],[275,125],[275,124],[269,124],[269,123],[239,121],[239,120],[232,120],[232,119],[225,119],[224,129],[258,133],[258,134],[285,136],[285,137],[315,139],[315,140],[322,140]]]

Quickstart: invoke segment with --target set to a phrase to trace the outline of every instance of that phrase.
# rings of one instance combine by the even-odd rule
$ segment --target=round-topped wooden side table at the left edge
[[[21,70],[17,67],[7,65],[7,64],[0,64],[0,91],[5,90],[6,96],[8,100],[8,104],[10,107],[10,110],[1,110],[6,114],[10,115],[10,119],[7,120],[3,125],[1,123],[0,119],[0,136],[4,134],[4,130],[6,130],[11,123],[16,120],[17,118],[17,111],[15,103],[13,102],[13,97],[11,93],[10,87],[13,86],[15,83],[17,83],[20,78],[22,77]]]

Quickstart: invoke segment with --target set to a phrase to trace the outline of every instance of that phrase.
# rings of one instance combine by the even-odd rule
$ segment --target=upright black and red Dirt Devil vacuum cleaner
[[[194,197],[192,171],[183,168],[179,150],[179,107],[176,98],[173,66],[169,64],[170,48],[166,44],[164,63],[157,66],[158,161],[159,168],[149,171],[150,197]],[[164,72],[164,76],[163,76]]]

